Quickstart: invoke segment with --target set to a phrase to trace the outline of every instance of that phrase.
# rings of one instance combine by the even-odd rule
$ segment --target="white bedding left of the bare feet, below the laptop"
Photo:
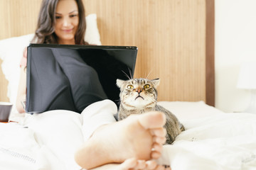
[[[73,160],[83,142],[80,115],[51,111],[39,117],[28,125],[0,123],[0,169],[80,169]]]

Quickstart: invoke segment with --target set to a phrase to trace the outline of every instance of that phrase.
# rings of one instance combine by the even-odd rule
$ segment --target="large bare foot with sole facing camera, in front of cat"
[[[75,154],[85,169],[103,164],[122,163],[126,159],[158,159],[166,141],[164,113],[130,115],[116,123],[102,125]]]

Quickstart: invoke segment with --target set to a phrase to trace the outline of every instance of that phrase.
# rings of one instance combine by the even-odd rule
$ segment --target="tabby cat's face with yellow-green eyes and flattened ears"
[[[120,101],[127,109],[152,108],[156,105],[159,79],[117,79],[120,88]]]

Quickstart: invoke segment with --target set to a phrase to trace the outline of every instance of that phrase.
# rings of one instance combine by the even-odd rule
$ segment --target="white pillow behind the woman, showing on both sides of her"
[[[85,41],[93,45],[101,45],[100,33],[97,28],[97,15],[92,13],[85,18],[87,28],[85,31]],[[16,111],[16,95],[18,91],[18,81],[20,75],[19,64],[23,55],[23,50],[29,45],[34,34],[23,35],[14,38],[0,40],[0,59],[3,60],[1,69],[7,81],[9,81],[7,96],[14,104],[12,113]]]

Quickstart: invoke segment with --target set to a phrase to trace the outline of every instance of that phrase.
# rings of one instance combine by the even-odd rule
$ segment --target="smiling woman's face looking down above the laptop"
[[[58,36],[58,44],[75,44],[78,23],[78,4],[76,1],[58,1],[55,11],[55,34]]]

